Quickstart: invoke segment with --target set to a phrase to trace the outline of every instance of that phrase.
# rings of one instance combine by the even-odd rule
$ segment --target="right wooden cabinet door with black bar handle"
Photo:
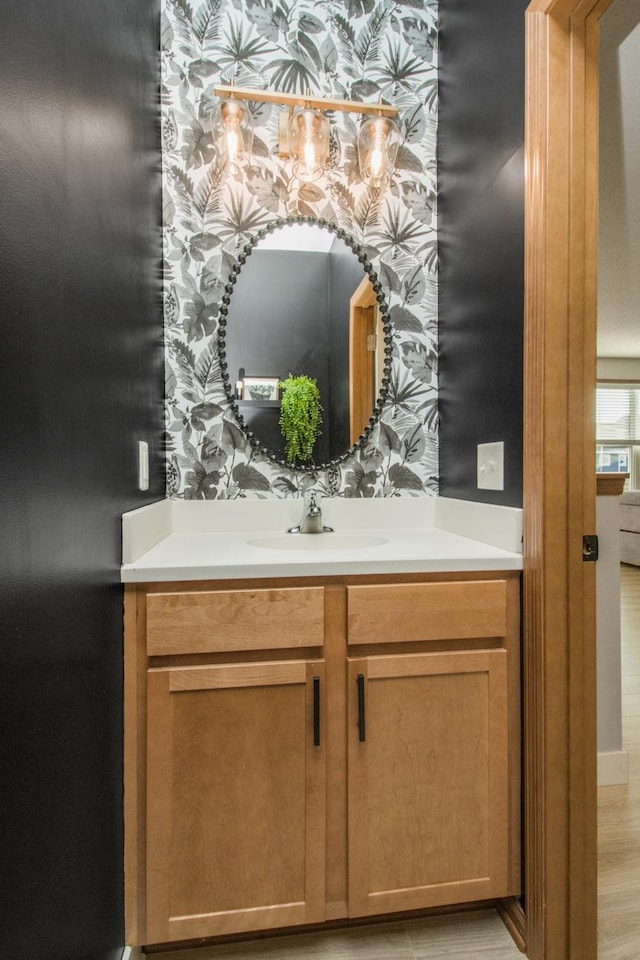
[[[508,893],[506,651],[349,661],[349,914]]]

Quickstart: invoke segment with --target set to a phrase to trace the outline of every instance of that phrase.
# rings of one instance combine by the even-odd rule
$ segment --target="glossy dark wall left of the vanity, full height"
[[[158,6],[2,6],[2,960],[124,940],[120,514],[164,492]]]

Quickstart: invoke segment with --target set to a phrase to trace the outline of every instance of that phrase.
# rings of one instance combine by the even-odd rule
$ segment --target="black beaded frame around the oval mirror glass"
[[[263,446],[260,443],[258,437],[256,437],[251,430],[247,430],[247,427],[244,422],[244,418],[240,413],[240,409],[236,402],[234,395],[234,389],[229,379],[229,369],[227,366],[227,353],[225,349],[226,344],[226,326],[227,318],[229,314],[229,304],[231,303],[231,294],[233,293],[233,287],[237,280],[238,274],[242,270],[243,265],[247,261],[247,257],[251,256],[253,253],[253,248],[264,239],[268,233],[273,233],[275,230],[280,229],[281,227],[291,226],[292,224],[309,224],[321,227],[324,230],[330,230],[332,233],[342,240],[348,247],[353,250],[354,254],[358,258],[359,262],[362,264],[364,273],[366,273],[371,280],[371,285],[373,291],[376,295],[378,305],[380,307],[380,316],[382,319],[382,329],[384,331],[384,366],[383,366],[383,377],[382,377],[382,387],[378,394],[373,414],[369,417],[369,423],[364,428],[364,431],[360,438],[354,443],[352,447],[346,450],[339,457],[334,457],[332,460],[327,461],[326,463],[309,463],[309,464],[297,464],[289,463],[287,460],[279,458],[275,453],[269,450],[267,447]],[[278,220],[273,220],[271,223],[267,224],[266,227],[258,230],[255,237],[253,237],[249,243],[245,244],[241,252],[238,254],[237,263],[234,264],[231,273],[229,274],[229,279],[224,288],[224,295],[220,301],[219,315],[218,315],[218,356],[220,358],[220,371],[222,374],[222,380],[224,383],[224,392],[226,394],[227,400],[229,401],[229,406],[235,416],[236,423],[238,427],[243,431],[247,440],[251,446],[261,453],[263,456],[269,457],[274,463],[279,464],[282,467],[287,467],[290,470],[300,470],[305,473],[315,473],[318,470],[328,470],[331,467],[336,466],[339,463],[342,463],[348,457],[353,456],[359,449],[364,447],[371,436],[371,433],[378,422],[382,408],[384,407],[384,402],[389,392],[389,374],[391,372],[391,362],[392,362],[392,351],[391,344],[393,343],[392,336],[392,324],[391,318],[389,316],[389,308],[387,302],[382,293],[382,284],[380,283],[378,276],[373,269],[373,264],[367,257],[364,252],[364,248],[361,244],[357,243],[352,236],[350,236],[346,230],[343,230],[341,227],[338,227],[337,224],[333,223],[330,220],[324,220],[320,218],[316,220],[314,217],[281,217]]]

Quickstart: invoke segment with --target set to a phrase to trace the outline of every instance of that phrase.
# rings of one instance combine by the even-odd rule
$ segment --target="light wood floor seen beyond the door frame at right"
[[[622,737],[629,783],[598,791],[599,960],[640,957],[640,567],[620,569]]]

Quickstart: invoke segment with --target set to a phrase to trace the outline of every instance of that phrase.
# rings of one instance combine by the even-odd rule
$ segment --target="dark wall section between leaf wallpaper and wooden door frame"
[[[440,0],[440,493],[522,504],[524,11]],[[503,440],[505,489],[476,488]]]

